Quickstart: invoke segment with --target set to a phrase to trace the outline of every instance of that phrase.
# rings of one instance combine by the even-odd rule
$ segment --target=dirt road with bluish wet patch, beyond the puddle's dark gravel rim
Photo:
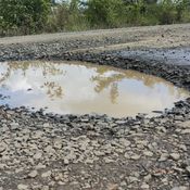
[[[122,49],[125,58],[190,65],[189,47],[190,24],[100,29],[0,38],[0,61],[10,60],[9,53],[12,60],[20,60],[21,54],[28,52],[52,55],[67,51],[99,53]]]

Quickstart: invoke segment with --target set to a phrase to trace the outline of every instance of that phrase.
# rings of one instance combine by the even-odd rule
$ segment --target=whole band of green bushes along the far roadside
[[[0,35],[190,22],[189,0],[0,0]]]

